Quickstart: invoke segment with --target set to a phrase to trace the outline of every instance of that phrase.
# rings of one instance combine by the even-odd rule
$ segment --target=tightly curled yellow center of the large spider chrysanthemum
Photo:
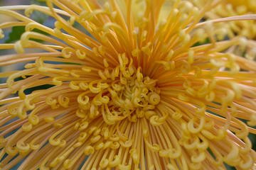
[[[154,109],[160,102],[157,80],[144,77],[142,68],[136,68],[133,60],[128,60],[124,54],[118,58],[119,64],[114,69],[103,60],[105,69],[98,70],[101,79],[91,81],[90,84],[82,82],[82,85],[80,82],[80,86],[89,91],[78,96],[78,117],[89,115],[90,118],[96,118],[101,113],[105,123],[113,125],[124,118],[136,122],[138,118],[146,116],[150,119],[156,115]]]

